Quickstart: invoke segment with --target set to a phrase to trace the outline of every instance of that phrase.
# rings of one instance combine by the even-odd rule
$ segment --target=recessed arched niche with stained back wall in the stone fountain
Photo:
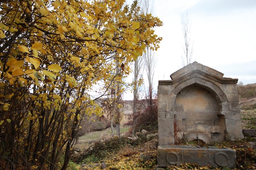
[[[225,116],[221,115],[221,102],[226,101],[223,100],[225,97],[218,97],[218,94],[224,93],[216,85],[218,94],[209,86],[198,83],[184,84],[177,85],[176,88],[180,91],[173,96],[175,141],[200,139],[209,143],[224,140],[226,124]],[[214,86],[213,83],[207,84]]]

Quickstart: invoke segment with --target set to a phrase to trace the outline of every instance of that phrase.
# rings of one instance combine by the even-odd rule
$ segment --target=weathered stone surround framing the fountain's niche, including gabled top
[[[240,105],[236,83],[238,79],[222,77],[223,74],[197,62],[189,64],[171,75],[172,80],[159,81],[158,132],[159,146],[174,144],[174,115],[177,94],[191,85],[201,86],[216,96],[218,115],[225,120],[225,137],[242,139]]]

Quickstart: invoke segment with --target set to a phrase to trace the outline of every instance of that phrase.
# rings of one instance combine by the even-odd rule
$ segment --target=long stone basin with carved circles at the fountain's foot
[[[158,146],[158,167],[196,163],[199,166],[236,168],[236,151],[230,148],[195,146]]]

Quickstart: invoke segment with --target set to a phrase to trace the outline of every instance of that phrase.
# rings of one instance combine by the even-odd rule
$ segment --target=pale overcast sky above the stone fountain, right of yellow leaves
[[[158,80],[182,68],[181,15],[189,14],[195,61],[243,84],[256,83],[256,0],[155,0],[164,26],[156,52]]]

